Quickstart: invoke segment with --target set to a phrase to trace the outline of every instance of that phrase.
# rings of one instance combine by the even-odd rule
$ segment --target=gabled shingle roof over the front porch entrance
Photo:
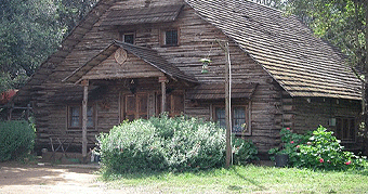
[[[144,62],[149,65],[156,67],[163,74],[170,76],[173,79],[180,78],[190,82],[198,82],[196,78],[186,75],[182,70],[180,70],[176,66],[171,65],[168,61],[158,55],[157,51],[152,50],[149,48],[139,47],[134,44],[130,44],[127,42],[121,42],[115,40],[110,46],[108,46],[105,50],[98,53],[96,56],[92,57],[84,65],[80,66],[76,69],[71,75],[63,79],[63,82],[79,82],[80,79],[90,72],[94,66],[98,65],[101,62],[105,61],[108,56],[110,56],[117,49],[122,48],[128,52],[134,54],[140,57]]]

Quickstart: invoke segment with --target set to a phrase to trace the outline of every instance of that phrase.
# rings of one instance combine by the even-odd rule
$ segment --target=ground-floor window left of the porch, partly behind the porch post
[[[69,106],[68,108],[68,127],[69,128],[81,128],[82,127],[82,108],[81,106],[75,105]],[[94,127],[94,107],[88,106],[87,107],[87,127],[93,128]]]

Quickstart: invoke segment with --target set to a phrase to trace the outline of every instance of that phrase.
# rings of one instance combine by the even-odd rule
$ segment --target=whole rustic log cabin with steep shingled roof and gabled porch
[[[360,148],[362,82],[344,55],[295,16],[247,0],[100,0],[13,103],[32,105],[37,148],[73,138],[86,155],[96,134],[162,112],[224,127],[227,60],[232,132],[260,154],[281,128],[319,125]]]

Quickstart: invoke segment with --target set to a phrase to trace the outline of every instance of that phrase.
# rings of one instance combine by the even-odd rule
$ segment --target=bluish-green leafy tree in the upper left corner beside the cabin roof
[[[32,75],[62,38],[51,0],[2,0],[0,5],[1,72],[12,78]]]

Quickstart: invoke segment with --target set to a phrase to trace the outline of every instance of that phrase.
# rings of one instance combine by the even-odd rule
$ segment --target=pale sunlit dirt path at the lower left
[[[0,194],[109,194],[131,193],[109,190],[97,181],[97,169],[58,166],[0,164]]]

